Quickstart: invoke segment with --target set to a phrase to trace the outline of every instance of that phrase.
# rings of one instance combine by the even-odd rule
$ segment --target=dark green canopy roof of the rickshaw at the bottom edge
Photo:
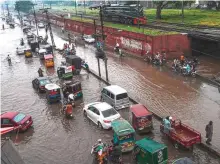
[[[143,138],[142,140],[136,141],[135,144],[139,146],[140,148],[142,148],[143,150],[150,152],[152,154],[161,149],[166,148],[166,145],[158,143],[149,138]]]

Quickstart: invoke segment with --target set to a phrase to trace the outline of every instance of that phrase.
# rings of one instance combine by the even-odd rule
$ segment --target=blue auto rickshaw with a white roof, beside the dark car
[[[46,98],[49,103],[61,100],[60,87],[56,84],[46,84]]]

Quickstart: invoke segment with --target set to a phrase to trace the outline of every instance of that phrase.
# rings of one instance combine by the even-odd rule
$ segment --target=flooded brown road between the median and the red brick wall
[[[55,30],[62,35],[60,30]],[[77,47],[77,55],[98,72],[95,48]],[[104,62],[100,60],[105,78]],[[172,115],[199,130],[203,136],[205,125],[214,122],[213,144],[220,148],[220,94],[216,87],[191,77],[182,77],[166,68],[149,65],[138,59],[119,58],[108,52],[108,73],[111,83],[128,90],[129,95],[162,116]]]

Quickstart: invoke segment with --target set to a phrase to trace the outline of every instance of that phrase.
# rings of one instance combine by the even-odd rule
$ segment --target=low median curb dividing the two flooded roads
[[[102,77],[99,77],[94,70],[89,69],[89,73],[91,73],[93,76],[95,76],[98,80],[104,82],[106,85],[111,85],[111,83],[109,81],[106,81]],[[133,102],[134,104],[138,104],[138,102],[135,99],[133,99],[132,97],[130,97],[130,96],[129,96],[129,100],[131,102]],[[151,110],[149,110],[149,111],[153,113],[153,116],[156,119],[162,121],[163,117],[160,114],[155,113],[155,112],[153,112]],[[210,153],[216,155],[217,157],[220,157],[220,150],[217,147],[213,146],[213,145],[207,145],[204,139],[202,139],[202,141],[199,144],[199,146],[201,146],[202,148],[205,148],[206,150],[208,150]]]

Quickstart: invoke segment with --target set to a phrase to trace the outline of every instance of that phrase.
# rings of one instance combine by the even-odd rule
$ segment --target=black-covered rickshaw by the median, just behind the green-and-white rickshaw
[[[66,63],[67,66],[74,66],[75,71],[73,74],[79,75],[81,68],[82,68],[82,59],[79,56],[76,55],[69,55],[66,56]]]

